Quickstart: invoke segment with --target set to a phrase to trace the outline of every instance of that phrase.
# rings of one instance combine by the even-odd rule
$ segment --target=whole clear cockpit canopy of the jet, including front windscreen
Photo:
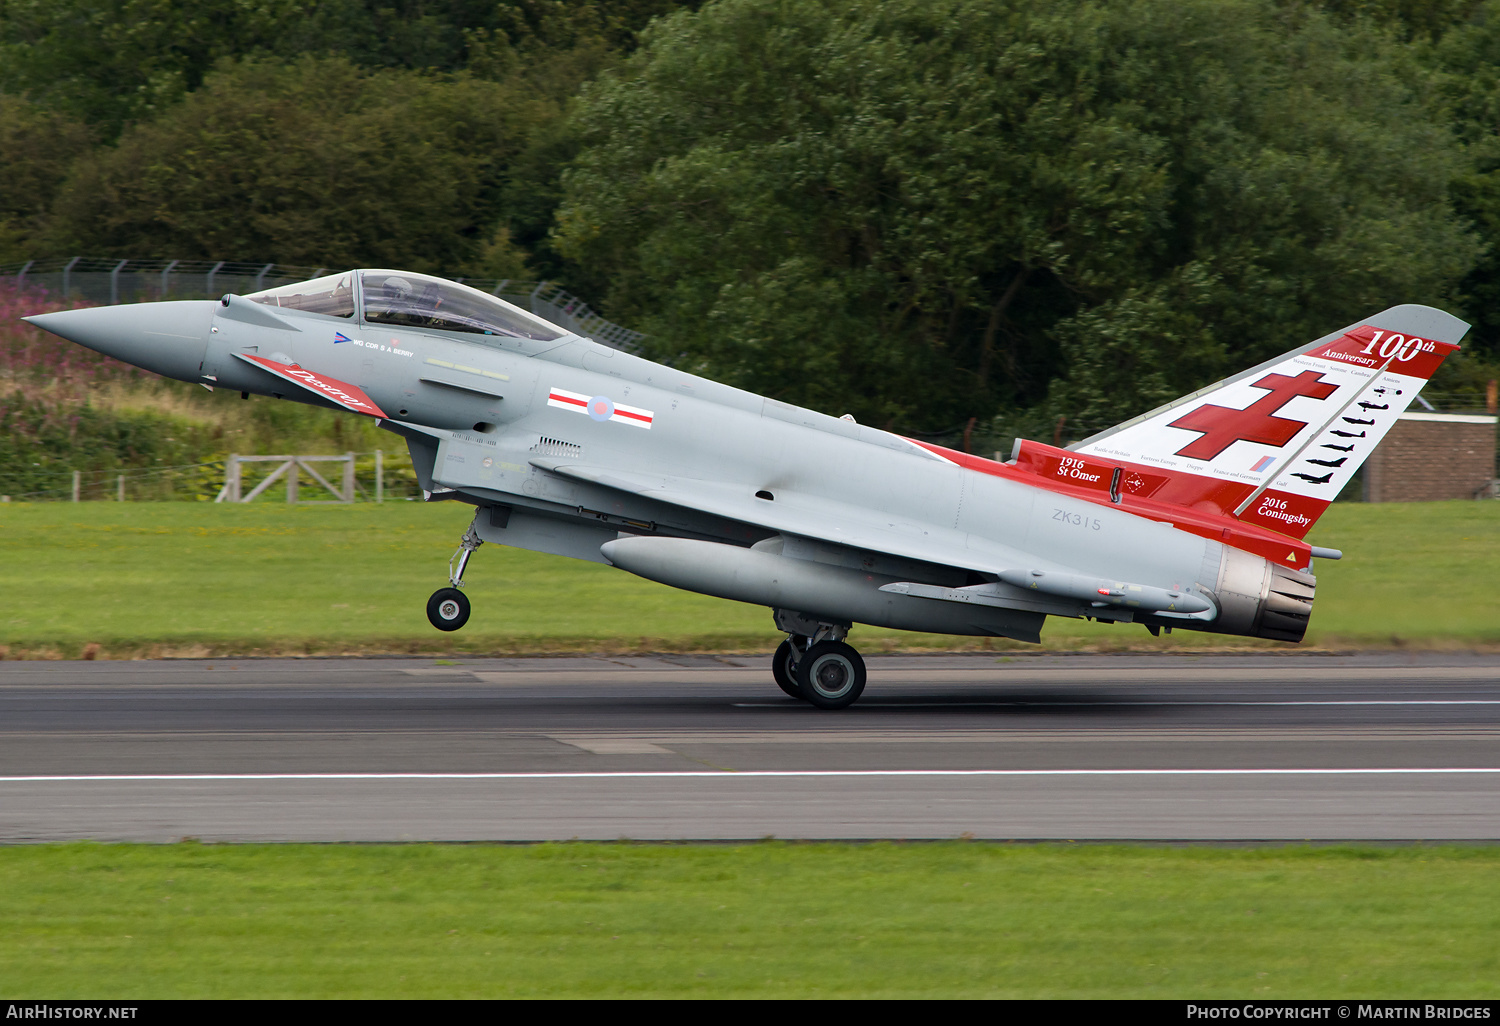
[[[441,278],[398,270],[342,272],[310,282],[282,285],[246,298],[330,316],[354,316],[354,276],[358,276],[364,320],[411,328],[465,332],[550,342],[567,332],[486,296],[477,288]]]

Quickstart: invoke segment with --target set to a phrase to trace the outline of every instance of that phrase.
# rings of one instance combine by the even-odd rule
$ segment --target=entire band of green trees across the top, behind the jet
[[[1497,128],[1500,0],[0,0],[0,262],[546,276],[1077,438],[1394,302],[1500,352]]]

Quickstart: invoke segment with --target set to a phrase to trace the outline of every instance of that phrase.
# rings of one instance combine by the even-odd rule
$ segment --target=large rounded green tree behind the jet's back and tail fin
[[[1106,426],[1446,296],[1478,246],[1425,81],[1264,3],[723,0],[585,90],[560,230],[657,356],[882,424]]]

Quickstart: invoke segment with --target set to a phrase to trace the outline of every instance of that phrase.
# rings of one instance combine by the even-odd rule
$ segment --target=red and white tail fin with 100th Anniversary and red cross
[[[1126,495],[1300,538],[1467,330],[1392,306],[1070,448],[1128,471]]]

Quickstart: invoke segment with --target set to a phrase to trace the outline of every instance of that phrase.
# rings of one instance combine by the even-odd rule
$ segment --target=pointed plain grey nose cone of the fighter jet
[[[135,303],[33,314],[22,320],[116,360],[196,381],[214,306],[212,300]]]

